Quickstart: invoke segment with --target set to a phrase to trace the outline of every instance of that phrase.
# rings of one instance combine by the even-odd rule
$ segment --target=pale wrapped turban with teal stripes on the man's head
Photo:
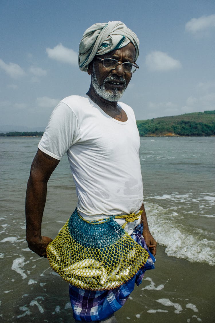
[[[139,39],[131,29],[121,21],[97,23],[89,27],[83,34],[79,44],[78,64],[81,71],[87,72],[88,64],[95,55],[103,55],[112,50],[124,47],[130,42],[136,49],[135,60],[139,56]]]

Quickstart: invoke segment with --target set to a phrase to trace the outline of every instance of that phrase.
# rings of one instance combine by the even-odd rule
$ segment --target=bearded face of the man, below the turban
[[[121,63],[134,63],[135,54],[135,47],[132,43],[129,43],[125,47],[113,50],[99,57],[114,58]],[[90,65],[88,73],[92,74],[91,82],[95,92],[108,101],[120,99],[132,78],[132,73],[124,72],[122,65],[118,65],[115,69],[110,70],[105,68],[103,62],[96,59],[96,57]]]

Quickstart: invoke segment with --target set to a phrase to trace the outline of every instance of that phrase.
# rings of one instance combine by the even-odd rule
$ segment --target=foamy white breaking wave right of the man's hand
[[[171,209],[165,210],[156,203],[145,203],[145,208],[151,234],[166,246],[168,256],[215,265],[215,242],[208,239],[206,232],[204,238],[200,238],[198,230],[186,233],[185,227],[174,221]]]

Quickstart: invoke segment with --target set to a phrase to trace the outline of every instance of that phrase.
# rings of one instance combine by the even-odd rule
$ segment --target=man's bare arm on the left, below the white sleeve
[[[32,251],[45,258],[47,257],[46,247],[52,239],[41,236],[41,224],[46,201],[47,182],[58,163],[59,160],[38,149],[31,165],[26,191],[26,240]]]

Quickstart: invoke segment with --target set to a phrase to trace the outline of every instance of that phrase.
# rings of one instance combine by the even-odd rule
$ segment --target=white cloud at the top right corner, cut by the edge
[[[215,27],[215,15],[192,18],[185,25],[185,29],[192,34],[206,31],[212,27]]]

